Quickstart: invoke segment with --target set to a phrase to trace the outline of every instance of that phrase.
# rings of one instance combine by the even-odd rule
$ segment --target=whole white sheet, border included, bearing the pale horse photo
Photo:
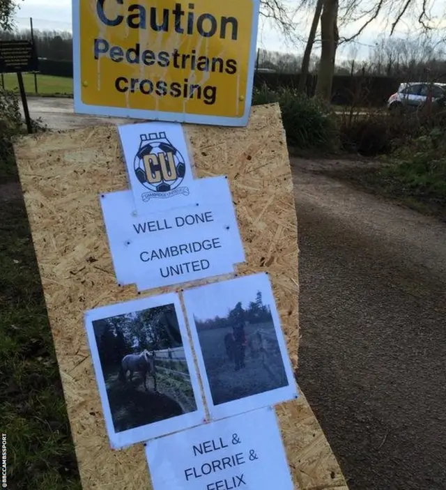
[[[203,422],[205,412],[178,295],[91,309],[85,326],[110,445],[119,449]],[[181,368],[166,364],[171,347]],[[128,354],[155,353],[155,376]],[[149,355],[150,358],[150,355]],[[146,363],[150,361],[146,358]],[[181,369],[179,372],[178,369]],[[155,389],[156,382],[156,389]]]

